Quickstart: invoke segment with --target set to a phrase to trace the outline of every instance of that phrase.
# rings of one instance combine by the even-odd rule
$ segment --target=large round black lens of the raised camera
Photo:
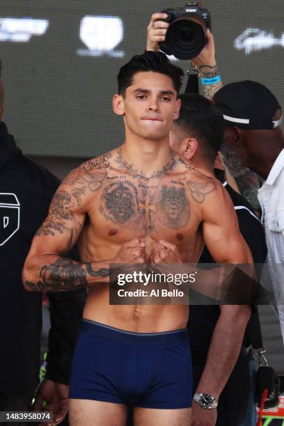
[[[178,18],[166,32],[168,50],[179,59],[195,58],[206,42],[205,23],[197,17]]]

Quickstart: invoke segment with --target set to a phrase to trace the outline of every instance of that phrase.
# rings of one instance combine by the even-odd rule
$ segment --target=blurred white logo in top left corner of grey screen
[[[0,18],[0,42],[29,42],[32,36],[42,36],[48,26],[47,19]]]

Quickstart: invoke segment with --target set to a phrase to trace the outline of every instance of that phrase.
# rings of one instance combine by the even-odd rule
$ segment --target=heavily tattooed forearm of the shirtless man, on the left
[[[74,262],[66,258],[58,258],[52,265],[45,265],[40,271],[40,279],[37,282],[25,281],[26,287],[31,290],[57,292],[65,290],[77,290],[90,285],[88,278],[96,277],[97,283],[106,282],[109,277],[108,268],[93,269],[92,264]]]

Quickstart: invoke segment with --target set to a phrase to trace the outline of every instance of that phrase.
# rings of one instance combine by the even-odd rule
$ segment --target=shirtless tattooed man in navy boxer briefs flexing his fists
[[[113,110],[125,143],[68,175],[26,260],[26,290],[89,287],[71,425],[122,426],[126,404],[135,406],[135,425],[190,425],[188,306],[110,306],[111,263],[197,262],[204,242],[216,262],[251,262],[222,184],[170,148],[182,75],[161,52],[120,69]],[[64,258],[76,241],[81,263]]]

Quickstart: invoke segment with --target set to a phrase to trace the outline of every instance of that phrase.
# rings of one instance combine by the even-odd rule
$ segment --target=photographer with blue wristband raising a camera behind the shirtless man
[[[189,60],[193,67],[189,72],[198,74],[200,93],[211,100],[223,84],[216,65],[209,11],[202,8],[200,3],[196,3],[196,6],[194,3],[191,6],[188,4],[175,11],[167,9],[167,13],[165,11],[154,13],[150,19],[147,50],[161,49],[176,58]],[[260,211],[258,175],[248,168],[236,168],[232,160],[225,160],[226,179],[256,211]]]

